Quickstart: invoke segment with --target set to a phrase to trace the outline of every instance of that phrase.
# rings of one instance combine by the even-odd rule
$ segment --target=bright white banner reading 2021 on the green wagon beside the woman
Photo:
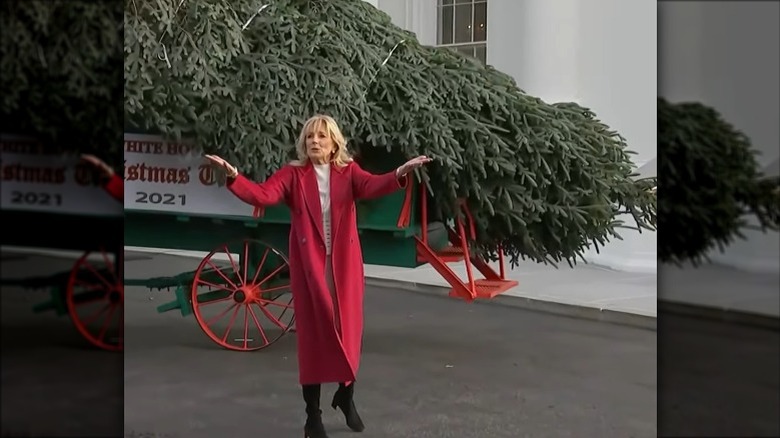
[[[125,210],[251,217],[216,176],[191,143],[125,133]]]

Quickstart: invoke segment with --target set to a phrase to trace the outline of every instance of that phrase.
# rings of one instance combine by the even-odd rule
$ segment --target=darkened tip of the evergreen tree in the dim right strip
[[[658,259],[698,264],[723,250],[755,215],[764,230],[780,226],[780,178],[758,170],[750,139],[697,102],[658,99],[658,172],[664,191]]]

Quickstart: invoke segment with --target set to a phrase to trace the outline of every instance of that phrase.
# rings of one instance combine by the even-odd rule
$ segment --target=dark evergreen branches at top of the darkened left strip
[[[4,1],[0,8],[3,133],[118,164],[122,2]]]

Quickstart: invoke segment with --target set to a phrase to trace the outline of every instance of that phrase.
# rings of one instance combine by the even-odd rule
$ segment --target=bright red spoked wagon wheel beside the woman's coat
[[[198,325],[212,341],[229,350],[257,351],[293,324],[290,264],[264,242],[239,243],[222,245],[203,259],[190,299]]]

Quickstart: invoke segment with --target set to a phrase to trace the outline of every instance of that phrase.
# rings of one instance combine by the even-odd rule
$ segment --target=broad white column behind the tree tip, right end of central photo
[[[654,165],[658,149],[657,11],[651,0],[593,0],[583,3],[579,15],[579,103],[626,138],[639,169]],[[634,225],[630,215],[621,219]],[[655,273],[657,233],[618,232],[623,240],[613,240],[598,254],[590,251],[586,259],[617,270]]]

